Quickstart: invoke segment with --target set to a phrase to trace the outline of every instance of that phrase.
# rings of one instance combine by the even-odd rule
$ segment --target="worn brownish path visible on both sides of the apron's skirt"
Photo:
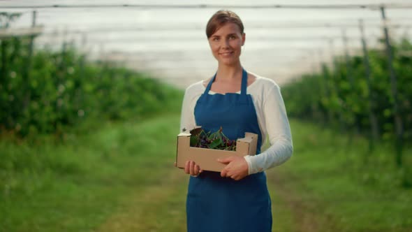
[[[282,207],[290,211],[293,229],[287,232],[320,232],[339,231],[332,225],[332,220],[320,217],[319,208],[315,203],[305,202],[300,193],[296,193],[288,184],[293,177],[285,178],[285,173],[271,171],[267,174],[268,184],[274,187]],[[292,180],[291,180],[292,179]],[[286,180],[288,182],[286,182]],[[98,228],[98,232],[181,232],[186,231],[186,184],[187,176],[172,168],[159,182],[136,189],[133,194],[124,198],[119,210]],[[304,194],[304,193],[302,193]],[[279,205],[274,205],[274,208]],[[277,221],[276,215],[274,221]],[[276,222],[281,223],[281,222]],[[287,226],[282,229],[274,224],[273,231],[286,232]]]

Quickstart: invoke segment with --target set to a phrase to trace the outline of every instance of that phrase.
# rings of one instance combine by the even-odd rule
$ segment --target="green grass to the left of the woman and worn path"
[[[105,124],[95,133],[0,141],[0,231],[92,231],[124,196],[174,170],[178,117]]]

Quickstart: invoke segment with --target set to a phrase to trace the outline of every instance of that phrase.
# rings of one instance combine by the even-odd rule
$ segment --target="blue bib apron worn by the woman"
[[[245,132],[256,133],[259,154],[262,135],[253,100],[247,94],[247,72],[242,72],[240,94],[209,94],[215,78],[196,103],[196,124],[212,132],[222,126],[231,140],[243,138]],[[266,175],[256,173],[236,181],[221,177],[219,172],[203,171],[198,177],[190,177],[186,213],[188,232],[272,231]]]

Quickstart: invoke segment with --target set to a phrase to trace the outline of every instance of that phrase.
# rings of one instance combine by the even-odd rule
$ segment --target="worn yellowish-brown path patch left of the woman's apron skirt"
[[[185,196],[187,176],[177,168],[124,199],[98,232],[186,231]]]

